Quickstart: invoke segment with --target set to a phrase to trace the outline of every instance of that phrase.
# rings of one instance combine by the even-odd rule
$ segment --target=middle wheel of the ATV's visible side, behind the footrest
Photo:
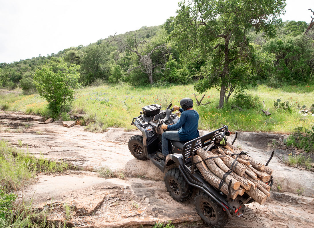
[[[167,191],[178,202],[185,201],[191,196],[191,186],[185,181],[178,168],[170,169],[165,175]]]

